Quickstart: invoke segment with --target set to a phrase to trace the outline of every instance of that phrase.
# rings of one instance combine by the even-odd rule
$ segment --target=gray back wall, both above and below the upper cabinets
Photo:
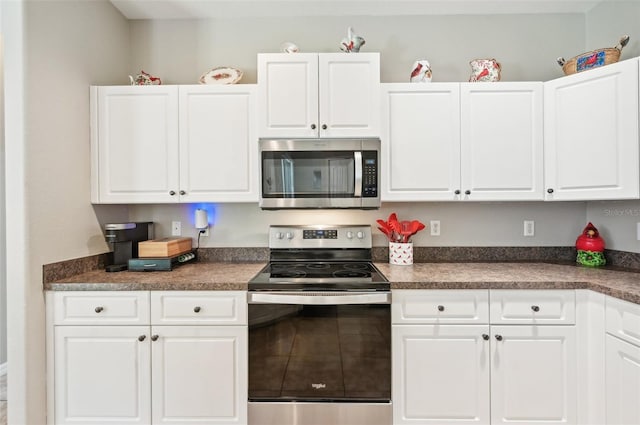
[[[466,81],[469,60],[477,57],[497,58],[504,81],[549,80],[562,75],[556,57],[585,49],[585,17],[579,14],[132,21],[130,73],[143,69],[163,82],[180,84],[196,82],[213,67],[234,66],[245,73],[241,83],[255,83],[257,53],[276,52],[283,41],[307,52],[338,51],[348,26],[367,40],[363,51],[381,53],[383,82],[407,81],[419,58],[431,62],[434,81]],[[402,219],[441,221],[441,236],[421,232],[414,239],[418,246],[566,246],[575,242],[586,217],[585,204],[579,202],[398,203],[369,212],[266,212],[255,204],[214,209],[215,227],[200,246],[266,246],[270,224],[375,226],[377,218],[392,211]],[[192,210],[188,205],[130,207],[133,220],[156,222],[159,236],[168,236],[170,222],[179,220],[183,235],[195,237]],[[536,221],[535,237],[523,236],[524,219]],[[382,235],[374,235],[374,245],[383,246]]]

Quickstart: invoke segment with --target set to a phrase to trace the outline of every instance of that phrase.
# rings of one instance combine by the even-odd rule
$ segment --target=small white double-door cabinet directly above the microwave
[[[379,136],[379,86],[379,53],[259,54],[258,136]]]

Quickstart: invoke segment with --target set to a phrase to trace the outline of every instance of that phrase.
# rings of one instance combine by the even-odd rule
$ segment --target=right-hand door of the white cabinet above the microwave
[[[321,53],[320,136],[380,136],[380,54]]]

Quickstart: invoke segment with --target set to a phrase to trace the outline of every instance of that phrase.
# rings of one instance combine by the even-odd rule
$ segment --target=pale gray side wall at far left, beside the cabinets
[[[106,0],[0,7],[2,29],[12,31],[3,39],[13,118],[5,123],[8,423],[36,425],[46,414],[42,265],[106,251],[89,203],[88,87],[127,72],[129,26]],[[103,210],[127,217],[126,208]]]

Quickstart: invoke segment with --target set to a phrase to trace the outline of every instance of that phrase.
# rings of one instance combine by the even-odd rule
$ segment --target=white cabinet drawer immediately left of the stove
[[[246,325],[244,291],[152,291],[154,325]]]

